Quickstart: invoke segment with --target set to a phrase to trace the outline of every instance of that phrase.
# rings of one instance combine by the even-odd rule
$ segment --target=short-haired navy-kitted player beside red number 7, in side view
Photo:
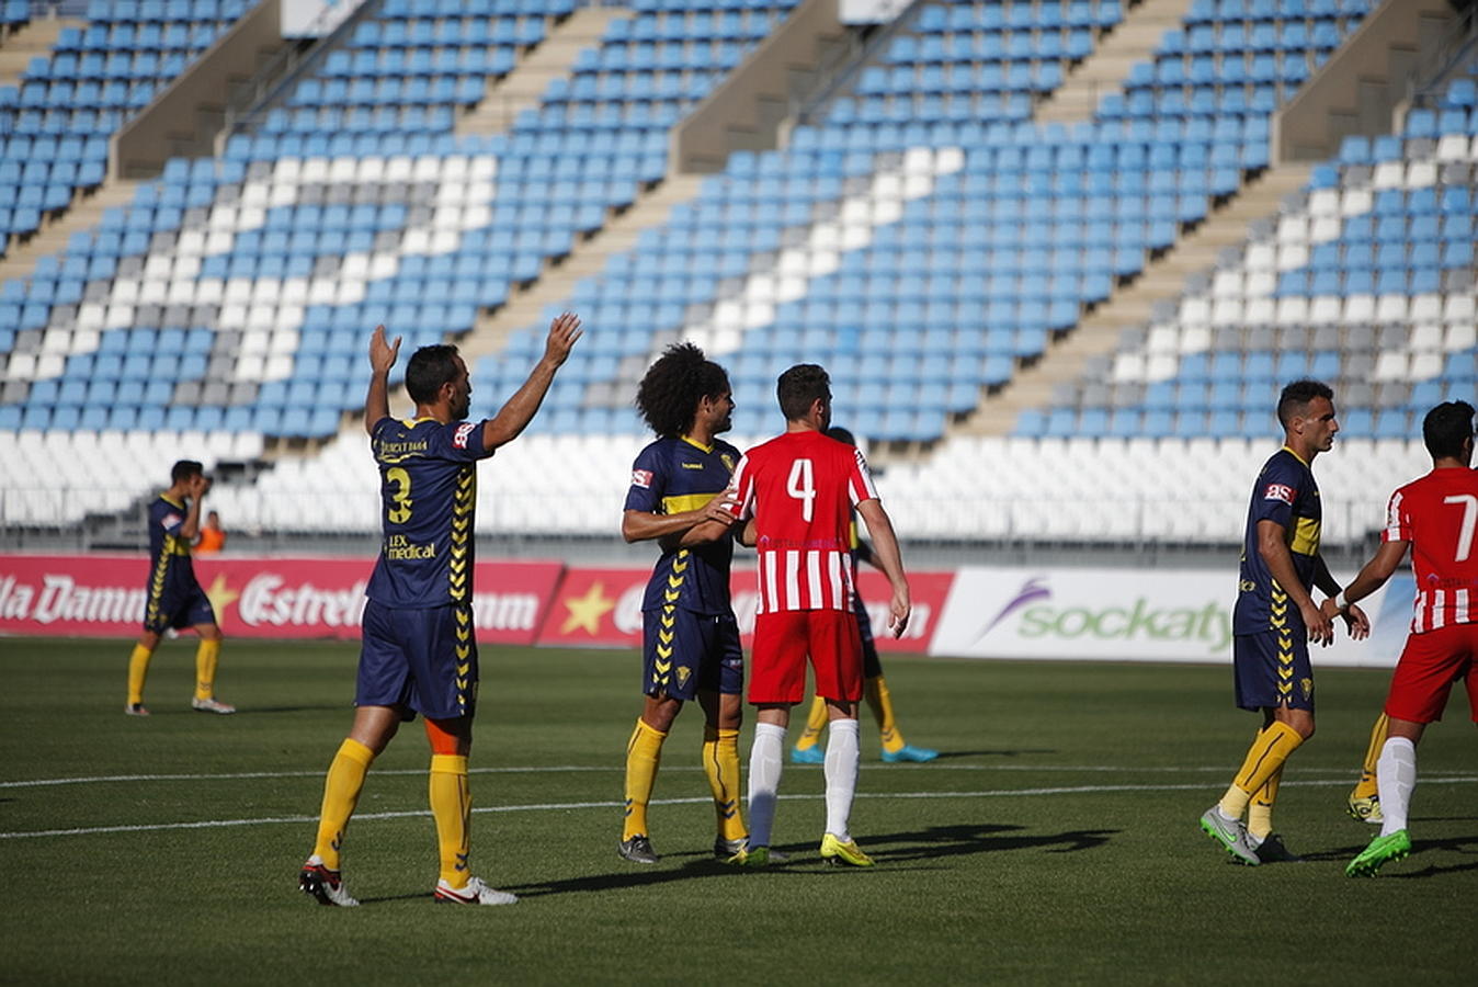
[[[1335,393],[1314,380],[1293,381],[1278,397],[1283,448],[1252,488],[1233,610],[1237,706],[1262,711],[1262,730],[1242,770],[1202,816],[1200,826],[1244,864],[1295,861],[1273,832],[1273,805],[1289,755],[1314,736],[1314,669],[1308,641],[1329,644],[1333,625],[1310,591],[1339,592],[1318,554],[1321,508],[1310,468],[1335,443]],[[1345,613],[1351,634],[1369,631],[1358,607]],[[1243,814],[1247,822],[1243,823]]]

